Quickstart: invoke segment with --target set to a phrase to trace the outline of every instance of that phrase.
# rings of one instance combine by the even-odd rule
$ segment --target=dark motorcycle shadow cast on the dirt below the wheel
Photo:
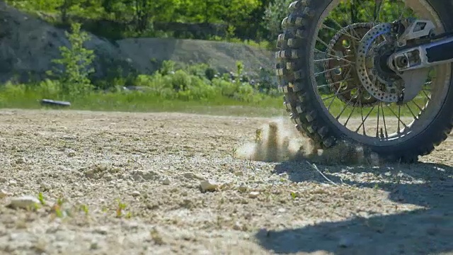
[[[289,179],[326,181],[317,173],[313,180],[302,176],[306,162],[285,162],[275,172],[287,173]],[[339,174],[347,166],[318,166],[328,179],[341,183]],[[369,222],[384,226],[376,229],[355,218],[342,222],[323,222],[299,229],[283,231],[263,230],[256,234],[258,243],[279,254],[325,251],[331,254],[440,254],[453,252],[453,168],[440,164],[419,163],[379,167],[348,168],[350,175],[382,174],[381,183],[345,181],[350,185],[380,188],[389,192],[389,199],[397,203],[420,205],[428,209],[403,212],[398,215],[374,216]],[[398,183],[397,172],[419,182]],[[387,183],[387,184],[386,184]]]

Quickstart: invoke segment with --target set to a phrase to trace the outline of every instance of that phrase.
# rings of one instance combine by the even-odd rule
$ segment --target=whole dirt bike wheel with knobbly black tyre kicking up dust
[[[362,4],[367,3],[366,0],[362,2]],[[374,3],[376,11],[377,2],[369,1],[368,6],[372,6]],[[387,4],[388,8],[385,12],[390,14],[392,11],[396,12],[396,6],[388,5],[398,4],[398,18],[409,13],[415,14],[417,18],[430,19],[437,27],[436,33],[453,29],[452,1],[406,0],[405,4],[401,1],[395,3],[395,1],[389,0],[380,2],[384,6]],[[285,94],[284,102],[290,118],[294,120],[297,130],[308,135],[321,149],[328,149],[338,142],[347,141],[360,145],[369,152],[379,154],[380,158],[387,162],[415,162],[419,156],[430,154],[435,146],[446,140],[453,128],[453,89],[450,89],[453,82],[452,64],[434,67],[430,74],[435,77],[428,77],[430,83],[427,81],[419,96],[406,105],[396,106],[395,103],[382,102],[386,96],[393,95],[388,88],[391,88],[392,84],[396,84],[398,79],[389,72],[384,74],[382,70],[377,70],[379,81],[376,86],[387,88],[388,93],[380,96],[366,94],[365,89],[358,82],[360,77],[357,77],[357,72],[355,70],[348,72],[353,68],[341,65],[342,61],[344,64],[354,62],[354,59],[349,60],[344,57],[338,61],[338,55],[333,56],[329,52],[353,55],[357,51],[355,39],[358,38],[350,36],[351,39],[348,42],[347,38],[345,39],[343,36],[348,34],[347,31],[350,31],[349,35],[352,35],[359,27],[365,29],[372,27],[370,24],[376,25],[378,23],[376,17],[379,18],[379,22],[391,22],[394,21],[394,17],[389,15],[389,18],[385,18],[383,15],[386,13],[378,11],[374,12],[374,16],[372,16],[374,18],[370,18],[368,21],[362,17],[360,22],[349,21],[348,23],[345,21],[344,25],[341,25],[340,23],[343,21],[340,22],[338,15],[338,20],[336,20],[333,15],[335,14],[334,9],[338,7],[343,8],[343,11],[340,9],[337,14],[344,14],[345,10],[349,10],[342,7],[342,4],[348,3],[340,3],[340,0],[294,1],[289,6],[289,16],[282,21],[283,33],[277,38],[278,51],[275,53],[276,73],[279,77],[279,89]],[[382,8],[382,4],[379,7]],[[401,4],[404,6],[399,13]],[[365,7],[361,6],[360,9],[364,10]],[[361,13],[364,12],[366,11]],[[355,15],[360,16],[357,13]],[[395,13],[392,15],[395,16]],[[324,21],[325,18],[329,21],[327,25]],[[355,18],[357,19],[357,17]],[[350,26],[356,26],[352,23],[359,25],[357,28],[352,28]],[[336,26],[335,31],[333,31],[333,26]],[[362,35],[357,34],[357,37],[360,36]],[[377,54],[383,54],[379,50],[385,51],[388,47],[384,42],[380,45],[376,42],[376,45]],[[322,50],[323,47],[325,47],[325,51]],[[328,60],[328,58],[333,60]],[[374,57],[374,60],[379,61],[377,59],[378,57]],[[379,66],[376,61],[374,61],[374,69],[378,69]],[[321,62],[323,64],[319,64]],[[348,74],[344,74],[344,70]],[[319,74],[323,74],[321,81],[318,81]],[[339,80],[345,76],[348,77],[348,81]],[[321,91],[321,88],[324,91]],[[328,95],[323,95],[329,93],[333,94],[330,98]],[[325,102],[326,98],[328,98],[328,103]],[[332,101],[331,98],[333,98]],[[425,103],[422,101],[423,98],[426,100]],[[337,108],[331,112],[330,106],[333,105]],[[346,110],[348,108],[350,110]],[[409,117],[412,115],[411,123],[403,121],[401,111],[404,111]],[[338,113],[345,112],[348,114],[343,118],[338,116]],[[382,115],[380,115],[381,113]],[[371,114],[374,115],[374,118],[370,117]],[[355,116],[356,123],[353,128],[348,128],[352,125],[350,124],[352,123],[351,116]],[[387,130],[386,120],[389,122],[389,117],[394,119],[394,126],[398,126],[395,127],[394,132]],[[382,119],[384,119],[384,123],[382,123]],[[369,126],[365,127],[365,121],[368,120],[374,121],[377,125],[374,124],[376,130],[367,134]],[[381,121],[380,127],[379,121]]]

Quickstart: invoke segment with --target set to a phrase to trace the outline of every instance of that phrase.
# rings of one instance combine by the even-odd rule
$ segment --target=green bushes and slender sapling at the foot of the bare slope
[[[268,73],[263,70],[258,77],[251,77],[243,72],[241,62],[236,63],[236,72],[219,74],[208,64],[186,65],[164,61],[154,74],[134,77],[131,80],[134,91],[124,87],[125,81],[130,78],[120,75],[113,79],[116,84],[101,81],[102,86],[98,86],[101,90],[96,90],[89,79],[89,74],[94,72],[91,67],[94,55],[91,50],[84,48],[88,35],[81,32],[78,23],[72,24],[71,28],[71,33],[66,34],[70,46],[60,48],[62,57],[54,60],[57,67],[53,72],[48,72],[50,77],[37,84],[9,82],[0,89],[0,106],[1,102],[23,101],[24,98],[67,101],[85,101],[89,98],[96,101],[93,95],[102,95],[103,100],[115,98],[116,103],[129,104],[147,97],[212,102],[220,102],[224,98],[243,103],[260,103],[277,95],[275,83]]]

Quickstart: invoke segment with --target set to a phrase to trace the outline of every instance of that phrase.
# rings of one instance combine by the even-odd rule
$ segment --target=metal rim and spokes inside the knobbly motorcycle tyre
[[[364,94],[358,88],[359,86],[354,88],[351,85],[353,84],[351,82],[355,79],[355,77],[351,77],[351,72],[343,73],[343,69],[348,70],[347,64],[350,64],[349,62],[343,61],[343,64],[333,63],[333,68],[326,68],[326,62],[332,61],[328,60],[328,58],[338,57],[329,54],[331,50],[337,50],[333,49],[331,45],[333,43],[332,39],[336,38],[329,38],[329,36],[332,34],[338,35],[340,29],[345,28],[346,24],[352,23],[351,16],[353,13],[349,13],[349,16],[332,18],[336,11],[337,13],[345,13],[345,7],[350,5],[349,1],[347,3],[340,2],[340,0],[333,0],[325,8],[316,26],[315,35],[317,37],[311,41],[310,47],[311,79],[323,112],[343,134],[367,145],[395,145],[420,134],[435,120],[437,113],[445,102],[451,79],[452,65],[442,64],[433,67],[428,75],[427,83],[423,86],[423,90],[413,101],[403,106],[396,106],[396,103],[391,103],[387,106],[386,103],[382,102],[374,102],[373,105],[373,96],[370,97],[369,94]],[[387,8],[390,6],[391,8],[387,10],[391,10],[392,13],[386,11],[385,8],[377,8],[379,6],[379,4],[376,5],[377,2],[368,0],[363,1],[361,4],[362,25],[372,23],[374,26],[377,23],[391,22],[396,19],[394,18],[395,16],[397,18],[407,18],[412,12],[415,13],[417,18],[428,18],[435,23],[437,27],[436,33],[445,31],[440,17],[437,16],[437,13],[425,0],[406,0],[406,3],[403,3],[403,1],[390,3],[389,0],[382,0],[381,5]],[[371,11],[373,7],[374,12]],[[338,8],[340,10],[343,8],[343,12],[338,12]],[[374,17],[376,16],[379,18],[375,19]],[[367,21],[364,21],[365,18]],[[343,23],[345,26],[342,26]],[[327,33],[326,30],[328,31]],[[335,32],[333,33],[333,31]],[[327,42],[326,39],[328,40]],[[356,44],[352,36],[350,36],[350,40],[350,42],[341,41],[340,45],[344,49],[355,47]],[[354,49],[352,48],[352,50]],[[348,60],[348,55],[343,56],[345,57],[341,58],[341,60]],[[349,68],[355,74],[355,64],[350,64]],[[330,76],[326,75],[326,73],[330,74]],[[331,79],[332,77],[335,79]],[[338,79],[339,77],[341,79]],[[352,81],[348,81],[348,83],[345,82],[346,79],[352,79]],[[328,87],[328,91],[326,91],[326,87]]]

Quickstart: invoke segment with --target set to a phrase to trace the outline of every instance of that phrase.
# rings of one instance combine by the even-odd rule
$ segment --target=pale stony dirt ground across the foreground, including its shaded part
[[[270,121],[1,110],[0,254],[453,254],[452,140],[414,165],[241,159]]]

